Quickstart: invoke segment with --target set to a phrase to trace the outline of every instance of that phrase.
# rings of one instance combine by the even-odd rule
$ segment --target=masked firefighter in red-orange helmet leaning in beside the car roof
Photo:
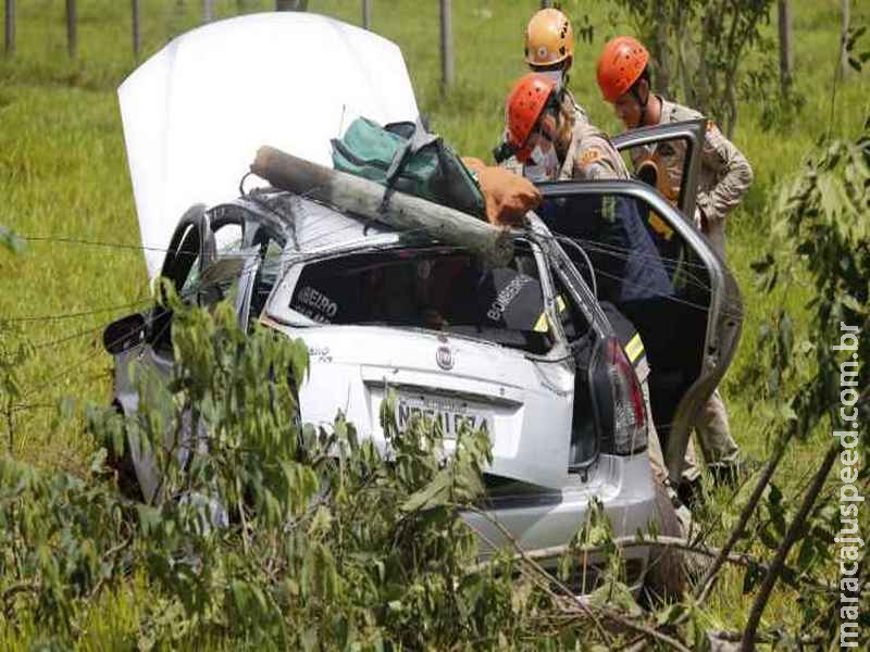
[[[627,179],[625,163],[607,134],[588,121],[579,122],[573,108],[562,101],[563,90],[557,80],[538,73],[524,75],[511,89],[505,118],[507,142],[514,154],[512,161],[519,166],[517,172],[534,181]],[[602,301],[619,308],[672,293],[655,244],[631,199],[616,195],[596,196],[591,202],[582,196],[568,198],[544,202],[539,215],[554,231],[574,238],[588,249]],[[621,339],[651,415],[646,383],[649,365],[643,344],[639,337],[620,335],[627,335]],[[633,346],[626,346],[633,340],[636,340]],[[668,474],[651,419],[649,454],[656,477],[667,484]]]

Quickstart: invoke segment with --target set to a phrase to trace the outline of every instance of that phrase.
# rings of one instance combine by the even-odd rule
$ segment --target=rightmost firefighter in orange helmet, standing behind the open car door
[[[617,116],[626,128],[662,125],[703,117],[700,113],[670,102],[651,92],[649,53],[631,36],[618,36],[605,45],[598,59],[598,86],[606,101],[613,104]],[[667,185],[680,187],[685,145],[668,143],[660,155]],[[649,156],[647,148],[635,148],[635,164]],[[725,215],[739,203],[753,181],[749,162],[719,128],[707,123],[701,151],[695,224],[708,237],[713,250],[725,259]],[[734,480],[739,468],[739,449],[731,436],[728,412],[717,389],[695,424],[708,467],[717,479]],[[683,478],[697,485],[697,468],[689,465]]]

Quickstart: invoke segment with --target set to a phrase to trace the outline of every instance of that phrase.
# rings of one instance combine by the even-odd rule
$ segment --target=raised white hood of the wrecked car
[[[330,139],[356,117],[418,115],[395,43],[300,12],[179,36],[134,71],[119,98],[149,278],[184,211],[235,198],[260,146],[332,166]]]

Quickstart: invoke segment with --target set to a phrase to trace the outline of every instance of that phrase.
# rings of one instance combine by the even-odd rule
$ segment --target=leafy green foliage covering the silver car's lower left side
[[[228,303],[213,314],[171,303],[175,372],[169,384],[140,375],[135,417],[86,409],[103,448],[85,477],[0,460],[9,627],[33,618],[55,642],[80,640],[95,599],[144,576],[154,599],[127,643],[145,649],[211,640],[495,649],[540,631],[569,645],[585,638],[586,612],[569,591],[559,602],[555,575],[530,576],[512,550],[480,563],[462,514],[482,499],[484,432],[461,432],[445,456],[438,428],[417,421],[400,431],[390,401],[381,415],[386,451],[340,414],[331,427],[301,426],[301,341],[245,334]],[[123,455],[128,439],[160,469],[149,503],[125,498],[107,472],[107,451]],[[618,559],[609,590],[627,595]]]

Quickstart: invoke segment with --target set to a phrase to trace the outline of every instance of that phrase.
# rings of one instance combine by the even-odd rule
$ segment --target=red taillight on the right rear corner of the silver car
[[[609,338],[601,344],[593,363],[601,452],[631,455],[647,446],[644,393],[619,340]]]

